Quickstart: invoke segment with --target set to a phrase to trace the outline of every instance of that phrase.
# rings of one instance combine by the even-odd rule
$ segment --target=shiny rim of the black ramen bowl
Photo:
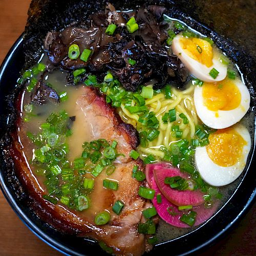
[[[2,65],[0,67],[0,86],[1,86],[1,81],[2,81],[2,77],[4,72],[8,69],[8,65],[10,60],[15,56],[15,52],[19,49],[19,47],[22,47],[23,45],[23,41],[24,41],[24,33],[22,33],[22,35],[20,35],[18,37],[18,39],[15,41],[15,43],[13,44],[13,46],[11,47],[11,49],[9,50],[9,52],[7,53],[5,59],[2,62]],[[246,174],[248,172],[249,169],[252,168],[251,165],[255,165],[256,163],[256,157],[255,157],[255,137],[254,137],[254,147],[252,148],[252,153],[251,153],[251,159],[249,161],[249,165],[246,171]],[[245,174],[245,176],[246,176]],[[244,177],[245,177],[244,176]],[[243,177],[243,179],[244,179]],[[242,180],[243,181],[243,180]],[[242,182],[241,181],[241,182]],[[241,185],[241,183],[239,184],[239,186]],[[16,215],[19,217],[20,220],[22,220],[22,222],[42,241],[44,241],[46,244],[48,244],[49,246],[51,246],[52,248],[56,249],[57,251],[65,254],[65,255],[86,255],[86,254],[81,254],[76,252],[75,250],[69,248],[68,246],[65,246],[63,244],[61,244],[60,242],[55,241],[53,238],[51,238],[48,234],[46,234],[45,232],[43,232],[42,230],[40,230],[37,225],[33,222],[33,220],[31,220],[26,214],[25,212],[23,212],[23,210],[18,206],[18,204],[16,203],[16,200],[14,198],[14,196],[12,196],[11,194],[11,189],[7,186],[5,180],[4,180],[4,175],[3,175],[3,171],[2,171],[2,166],[0,166],[0,188],[5,196],[5,198],[7,199],[9,205],[11,206],[11,208],[14,210],[14,212],[16,213]],[[233,196],[233,195],[232,195]],[[232,198],[232,196],[227,200],[227,202],[216,212],[216,214],[218,214],[218,212],[229,202],[229,200]],[[220,232],[218,232],[217,234],[215,234],[214,236],[211,237],[211,239],[207,240],[206,242],[196,246],[193,249],[189,249],[188,251],[186,251],[185,253],[181,253],[179,255],[188,255],[191,253],[195,253],[195,252],[199,252],[202,251],[203,249],[205,249],[207,246],[211,246],[212,244],[216,243],[217,241],[219,241],[223,236],[225,236],[225,234],[227,234],[229,231],[231,231],[238,223],[239,221],[241,221],[241,219],[244,217],[244,215],[248,212],[249,208],[252,206],[252,204],[254,203],[256,198],[256,188],[254,188],[254,190],[252,191],[250,197],[248,198],[246,204],[242,207],[242,209],[240,210],[239,214],[237,215],[236,218],[234,218],[230,223],[228,223],[224,229],[222,229]],[[215,214],[215,215],[216,215]],[[214,216],[213,216],[214,217]],[[208,222],[208,221],[207,221]],[[206,222],[206,223],[207,223]],[[205,224],[206,224],[205,223]],[[205,225],[203,224],[203,225]],[[200,227],[199,227],[200,228]],[[199,228],[193,230],[196,231]],[[192,233],[193,231],[189,232]],[[189,234],[187,233],[187,234]],[[185,234],[184,236],[186,236],[187,234]],[[181,237],[184,237],[181,236]],[[180,239],[181,237],[178,237],[176,239]],[[173,240],[176,240],[173,239]],[[171,241],[173,241],[171,240]],[[161,245],[165,245],[171,241],[166,241],[163,243],[160,243],[158,245],[156,245],[155,247],[157,248],[158,246]],[[154,253],[154,252],[153,252]]]

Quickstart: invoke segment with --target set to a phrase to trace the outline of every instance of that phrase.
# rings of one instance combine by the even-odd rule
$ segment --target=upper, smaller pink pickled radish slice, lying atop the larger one
[[[161,190],[161,193],[167,198],[168,201],[175,205],[192,205],[197,206],[204,203],[203,193],[200,190],[177,190],[171,188],[170,185],[164,183],[166,177],[180,176],[181,178],[188,179],[188,175],[181,173],[179,169],[171,168],[154,168],[153,170],[156,183]]]

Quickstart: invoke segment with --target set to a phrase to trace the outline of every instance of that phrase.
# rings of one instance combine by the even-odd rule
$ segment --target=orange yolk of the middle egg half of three
[[[204,83],[202,88],[204,105],[208,110],[233,110],[241,103],[241,93],[231,80],[224,79],[216,83]]]

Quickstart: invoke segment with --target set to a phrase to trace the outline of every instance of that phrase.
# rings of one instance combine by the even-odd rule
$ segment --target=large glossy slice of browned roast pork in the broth
[[[132,169],[135,164],[143,169],[141,161],[135,161],[129,157],[130,151],[138,144],[136,131],[121,121],[97,90],[89,87],[80,90],[81,95],[76,101],[76,121],[77,117],[83,118],[83,123],[88,123],[92,130],[84,130],[86,126],[81,126],[80,122],[76,124],[76,121],[74,130],[82,129],[94,139],[104,138],[108,141],[115,139],[118,142],[117,152],[125,155],[115,160],[116,169],[111,176],[106,176],[105,172],[102,172],[95,178],[94,190],[91,193],[92,204],[89,209],[82,212],[72,211],[65,205],[53,205],[42,198],[47,191],[43,182],[33,175],[33,167],[28,164],[27,159],[31,158],[33,144],[28,140],[25,134],[26,129],[23,129],[25,124],[20,119],[18,120],[19,129],[12,134],[14,145],[9,153],[14,159],[16,169],[19,170],[19,179],[28,190],[30,205],[41,219],[62,232],[103,241],[113,249],[116,255],[141,255],[152,246],[147,244],[144,234],[138,233],[138,223],[143,218],[142,210],[152,204],[138,196],[141,183],[132,178]],[[72,147],[70,150],[72,151]],[[78,152],[70,158],[72,159],[76,154]],[[87,175],[93,178],[90,174]],[[105,178],[118,181],[118,190],[103,188],[102,183]],[[117,200],[125,204],[119,216],[112,211],[112,206]],[[106,225],[96,226],[94,217],[103,210],[110,212],[111,221]]]

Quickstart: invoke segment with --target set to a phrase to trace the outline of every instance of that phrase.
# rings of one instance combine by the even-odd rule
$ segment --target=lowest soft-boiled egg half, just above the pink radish
[[[243,172],[250,147],[250,134],[243,125],[218,130],[209,135],[207,146],[196,148],[198,172],[212,186],[227,185]]]

